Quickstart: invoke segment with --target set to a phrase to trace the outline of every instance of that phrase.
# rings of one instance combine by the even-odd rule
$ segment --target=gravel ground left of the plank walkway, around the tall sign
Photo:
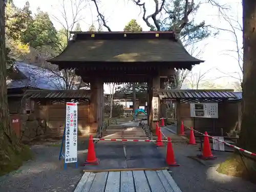
[[[18,170],[0,177],[0,191],[8,192],[71,192],[82,176],[75,164],[63,169],[63,160],[58,160],[59,147],[33,145],[35,159]],[[78,154],[78,162],[84,160],[84,151]]]

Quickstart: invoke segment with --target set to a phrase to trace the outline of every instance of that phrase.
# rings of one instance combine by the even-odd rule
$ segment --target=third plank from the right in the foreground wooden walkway
[[[135,170],[133,171],[134,185],[136,188],[136,192],[148,192],[150,190],[150,186],[148,186],[146,176],[143,170]]]

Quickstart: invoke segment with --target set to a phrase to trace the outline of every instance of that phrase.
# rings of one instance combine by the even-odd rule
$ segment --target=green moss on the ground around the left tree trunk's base
[[[15,158],[14,158],[15,157]],[[23,165],[24,161],[28,161],[33,158],[32,152],[28,145],[22,145],[22,151],[20,153],[14,152],[12,154],[12,161],[2,162],[4,166],[0,167],[0,176],[13,172]]]

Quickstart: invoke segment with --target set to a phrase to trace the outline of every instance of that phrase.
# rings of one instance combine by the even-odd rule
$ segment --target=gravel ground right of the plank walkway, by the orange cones
[[[168,137],[176,139],[177,135],[163,130]],[[176,137],[176,138],[175,138]],[[244,181],[241,178],[229,177],[216,172],[216,166],[208,167],[200,164],[196,160],[190,159],[187,156],[196,156],[198,145],[187,145],[182,142],[173,143],[175,158],[181,166],[172,167],[172,176],[182,192],[255,192],[256,185]],[[165,147],[161,149],[162,154],[166,154]],[[217,163],[223,161],[230,153],[219,152]]]

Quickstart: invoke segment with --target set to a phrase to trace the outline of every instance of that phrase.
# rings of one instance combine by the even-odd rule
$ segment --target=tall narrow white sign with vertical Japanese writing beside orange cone
[[[77,162],[77,104],[66,104],[65,162]]]

